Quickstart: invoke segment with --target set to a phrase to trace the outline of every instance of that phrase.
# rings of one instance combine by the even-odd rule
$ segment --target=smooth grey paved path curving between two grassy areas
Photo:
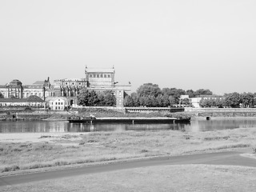
[[[244,157],[242,151],[228,151],[209,154],[189,154],[174,157],[140,159],[129,162],[117,162],[101,166],[84,166],[65,170],[53,170],[33,174],[0,177],[0,186],[26,182],[38,182],[46,179],[72,177],[81,174],[102,173],[113,170],[125,170],[145,166],[166,166],[184,164],[232,165],[256,167],[256,158]]]

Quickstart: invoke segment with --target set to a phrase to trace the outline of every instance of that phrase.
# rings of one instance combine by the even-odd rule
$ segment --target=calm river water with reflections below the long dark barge
[[[186,130],[208,131],[236,128],[256,128],[256,118],[193,119],[190,124],[83,124],[55,121],[0,122],[0,133],[40,133],[40,132],[91,132],[123,130]]]

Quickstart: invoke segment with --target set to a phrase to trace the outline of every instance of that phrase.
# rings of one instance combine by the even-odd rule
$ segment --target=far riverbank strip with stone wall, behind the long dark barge
[[[138,108],[138,107],[137,107]],[[142,107],[143,110],[145,108]],[[161,108],[159,108],[161,109]],[[118,110],[105,108],[82,108],[70,111],[52,111],[52,110],[14,110],[13,108],[5,110],[6,113],[0,114],[0,121],[18,121],[18,120],[56,120],[67,119],[76,114],[79,116],[89,116],[94,114],[96,118],[256,118],[256,108],[186,108],[184,112],[172,113],[171,110],[159,110],[155,112],[144,111],[143,113],[123,113]],[[15,112],[15,113],[14,113]]]

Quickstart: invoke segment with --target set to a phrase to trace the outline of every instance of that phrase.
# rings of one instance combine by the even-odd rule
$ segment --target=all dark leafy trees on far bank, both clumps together
[[[189,98],[202,97],[199,102],[201,107],[255,107],[256,93],[237,92],[225,94],[223,97],[214,96],[212,91],[206,89],[182,90],[177,88],[162,88],[157,84],[145,83],[139,86],[136,92],[126,95],[124,106],[147,106],[147,107],[175,107],[191,106],[189,98],[181,99],[181,95],[189,95]],[[80,106],[115,106],[116,98],[110,90],[96,92],[86,88],[79,91],[78,105]]]

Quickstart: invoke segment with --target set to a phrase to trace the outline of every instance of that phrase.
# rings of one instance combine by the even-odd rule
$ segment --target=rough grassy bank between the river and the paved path
[[[20,134],[22,137],[22,134]],[[92,132],[46,135],[50,142],[0,143],[0,171],[106,162],[116,159],[178,155],[256,146],[256,130],[200,133],[178,130]]]

